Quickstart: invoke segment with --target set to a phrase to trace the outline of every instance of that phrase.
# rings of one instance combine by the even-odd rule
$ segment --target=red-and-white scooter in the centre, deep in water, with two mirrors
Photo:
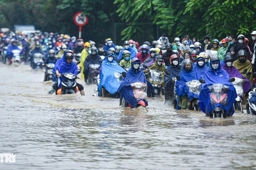
[[[146,78],[151,76],[151,73],[147,73]],[[122,77],[126,78],[126,72],[122,72]],[[129,81],[129,80],[128,80]],[[131,87],[133,89],[133,94],[136,100],[144,99],[147,100],[147,84],[143,82],[135,82],[131,84]],[[137,105],[134,107],[137,109],[139,106],[146,107],[146,103],[144,100],[141,100],[137,102]],[[119,105],[121,107],[129,107],[133,108],[125,99],[124,97],[120,98]]]

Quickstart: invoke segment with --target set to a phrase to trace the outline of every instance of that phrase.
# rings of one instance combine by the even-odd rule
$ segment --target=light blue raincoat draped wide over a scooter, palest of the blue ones
[[[101,63],[101,82],[98,86],[99,96],[101,96],[101,88],[104,87],[109,93],[115,94],[120,86],[120,81],[117,80],[114,73],[122,74],[124,72],[115,60],[111,62],[105,58]]]

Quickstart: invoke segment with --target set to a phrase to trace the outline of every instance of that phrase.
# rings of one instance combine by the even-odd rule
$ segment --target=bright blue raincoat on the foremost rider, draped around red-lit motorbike
[[[217,69],[218,71],[214,70],[213,68],[210,68],[208,71],[205,72],[205,74],[202,76],[202,78],[205,80],[205,84],[201,84],[201,92],[199,95],[199,102],[198,105],[200,109],[203,112],[206,112],[205,107],[207,108],[207,113],[208,114],[211,110],[213,110],[216,106],[220,106],[222,109],[225,109],[227,111],[230,110],[231,107],[233,107],[233,103],[236,101],[237,98],[237,92],[235,87],[233,86],[232,83],[229,83],[229,74],[222,68]],[[226,92],[228,94],[227,99],[228,99],[228,104],[227,106],[222,105],[220,103],[216,103],[214,105],[211,105],[210,103],[210,90],[209,86],[213,84],[223,84],[229,86],[228,91]],[[229,85],[228,85],[229,84]],[[231,115],[233,115],[233,112]]]

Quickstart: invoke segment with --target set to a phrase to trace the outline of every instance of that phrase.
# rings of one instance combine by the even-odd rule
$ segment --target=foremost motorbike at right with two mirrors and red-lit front
[[[205,84],[205,80],[199,80],[201,84]],[[229,83],[234,82],[235,78],[229,78]],[[206,85],[206,88],[210,90],[210,105],[216,105],[209,113],[206,113],[211,118],[226,118],[229,115],[229,110],[225,110],[224,107],[228,106],[228,93],[230,86],[223,84]],[[223,105],[224,107],[222,107]],[[231,106],[232,107],[232,106]],[[208,108],[207,108],[208,109]]]

